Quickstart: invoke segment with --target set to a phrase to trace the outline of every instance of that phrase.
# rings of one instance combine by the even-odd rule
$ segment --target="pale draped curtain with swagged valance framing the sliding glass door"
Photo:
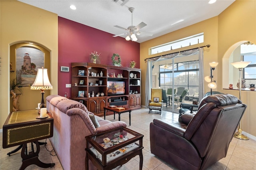
[[[181,51],[181,52],[177,52],[177,53],[171,53],[171,54],[167,54],[167,55],[161,55],[158,57],[152,57],[152,58],[148,58],[148,63],[147,63],[147,75],[146,75],[146,89],[145,89],[145,100],[146,100],[146,108],[148,108],[148,100],[150,99],[150,82],[151,82],[151,76],[150,76],[150,61],[158,61],[162,58],[166,58],[166,59],[171,59],[174,58],[176,56],[178,56],[179,54],[182,55],[193,55],[195,53],[197,53],[199,51],[199,89],[198,89],[198,98],[199,101],[201,101],[202,97],[203,97],[203,92],[204,92],[204,77],[203,77],[203,73],[204,73],[204,69],[203,69],[203,47],[199,47],[199,48],[194,48],[194,49],[189,49],[186,51]]]

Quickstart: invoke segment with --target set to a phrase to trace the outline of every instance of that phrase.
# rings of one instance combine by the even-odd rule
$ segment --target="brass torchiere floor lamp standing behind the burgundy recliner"
[[[242,91],[242,77],[241,73],[243,68],[247,67],[252,61],[238,61],[238,62],[233,62],[231,63],[234,67],[239,69],[239,100],[241,100],[241,91]],[[241,129],[241,121],[239,122],[239,128],[238,128],[238,133],[234,134],[235,138],[238,139],[243,139],[243,140],[248,140],[249,138],[242,134],[242,129]]]

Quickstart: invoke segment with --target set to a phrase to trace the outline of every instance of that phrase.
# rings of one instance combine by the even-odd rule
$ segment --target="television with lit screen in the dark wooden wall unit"
[[[108,96],[124,95],[125,82],[124,81],[108,81],[107,83]]]

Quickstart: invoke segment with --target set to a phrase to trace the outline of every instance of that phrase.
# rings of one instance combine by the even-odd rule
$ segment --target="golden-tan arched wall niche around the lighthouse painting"
[[[31,42],[31,41],[20,41],[14,42],[10,44],[10,63],[12,63],[13,73],[10,73],[10,80],[16,79],[16,49],[20,47],[31,47],[38,49],[44,53],[44,67],[48,69],[48,77],[51,82],[51,68],[50,68],[50,49],[45,47],[44,45]],[[50,90],[46,90],[44,94],[45,97],[50,95]],[[22,95],[20,95],[18,99],[19,110],[29,110],[34,109],[37,106],[37,103],[41,103],[42,95],[38,90],[30,90],[30,87],[22,87]],[[12,111],[12,98],[10,98],[10,111]]]

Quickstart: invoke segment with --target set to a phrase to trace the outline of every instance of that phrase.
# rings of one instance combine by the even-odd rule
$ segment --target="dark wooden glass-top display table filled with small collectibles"
[[[100,170],[107,170],[123,165],[136,155],[140,156],[142,170],[143,134],[119,127],[99,134],[86,136],[86,170],[89,159]]]

